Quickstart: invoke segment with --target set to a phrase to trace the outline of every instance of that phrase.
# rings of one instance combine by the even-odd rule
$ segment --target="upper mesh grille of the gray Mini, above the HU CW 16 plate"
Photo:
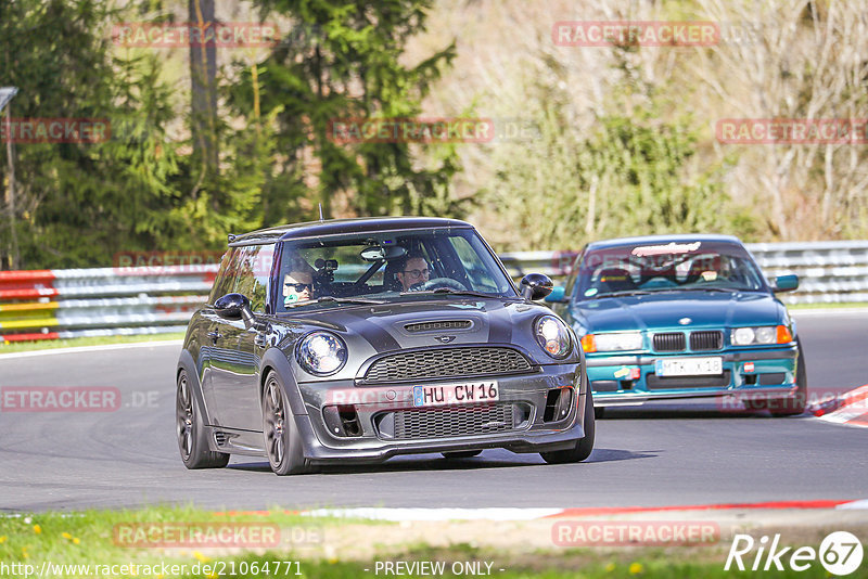
[[[527,359],[509,348],[448,348],[396,353],[376,360],[366,382],[515,374],[531,370]]]

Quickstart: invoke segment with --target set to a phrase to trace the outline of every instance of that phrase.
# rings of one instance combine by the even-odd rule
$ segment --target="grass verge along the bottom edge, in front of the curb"
[[[227,514],[193,507],[13,515],[0,518],[0,576],[699,579],[752,575],[724,570],[728,540],[702,546],[565,549],[551,543],[551,522],[441,523],[429,529],[426,540],[419,540],[411,531],[422,525],[312,518],[280,510]],[[271,533],[265,532],[269,529]],[[500,535],[511,536],[511,542],[498,543]],[[221,539],[229,540],[215,544]],[[816,549],[819,542],[814,542]],[[749,566],[753,555],[745,555]],[[787,561],[782,558],[784,566]],[[868,562],[852,576],[864,577],[865,571]],[[826,578],[828,574],[814,562],[806,571],[763,576]]]

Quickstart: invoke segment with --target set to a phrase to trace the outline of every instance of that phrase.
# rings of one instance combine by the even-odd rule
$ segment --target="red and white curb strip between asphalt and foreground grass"
[[[284,514],[309,517],[360,518],[368,520],[538,520],[562,517],[595,517],[629,515],[636,513],[664,513],[688,511],[782,511],[782,510],[868,510],[868,499],[857,501],[815,500],[815,501],[770,501],[760,503],[719,503],[667,506],[588,506],[574,509],[548,507],[489,507],[489,509],[315,509],[311,511],[284,511]],[[276,511],[228,511],[215,513],[218,516],[269,516]]]

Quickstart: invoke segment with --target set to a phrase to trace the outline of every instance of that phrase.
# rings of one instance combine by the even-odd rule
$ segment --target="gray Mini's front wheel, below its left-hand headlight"
[[[263,436],[268,463],[276,475],[301,475],[311,471],[286,390],[275,371],[266,377],[263,390]]]

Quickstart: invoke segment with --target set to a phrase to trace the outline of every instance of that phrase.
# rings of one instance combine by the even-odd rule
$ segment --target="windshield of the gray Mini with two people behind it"
[[[279,275],[278,312],[430,294],[518,297],[472,229],[289,240],[280,250]]]

